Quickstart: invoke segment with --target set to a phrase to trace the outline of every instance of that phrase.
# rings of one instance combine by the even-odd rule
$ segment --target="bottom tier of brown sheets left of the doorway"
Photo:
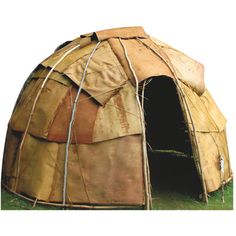
[[[12,191],[21,138],[19,132],[8,129],[2,181]],[[22,148],[16,192],[32,199],[61,203],[64,160],[65,144],[28,134]],[[71,205],[143,205],[142,173],[140,135],[93,144],[71,144],[67,202]]]

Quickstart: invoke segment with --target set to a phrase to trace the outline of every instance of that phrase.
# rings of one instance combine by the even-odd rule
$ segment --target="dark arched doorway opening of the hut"
[[[201,185],[176,85],[166,76],[148,81],[144,112],[152,189],[198,194]]]

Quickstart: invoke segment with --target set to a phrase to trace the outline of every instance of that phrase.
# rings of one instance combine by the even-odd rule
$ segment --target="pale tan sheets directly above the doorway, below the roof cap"
[[[134,82],[120,40],[110,38],[108,42],[126,74]],[[127,54],[139,81],[159,75],[174,78],[169,67],[171,66],[174,67],[178,79],[191,87],[198,95],[205,91],[204,67],[201,63],[153,38],[122,39],[122,43],[127,49]]]

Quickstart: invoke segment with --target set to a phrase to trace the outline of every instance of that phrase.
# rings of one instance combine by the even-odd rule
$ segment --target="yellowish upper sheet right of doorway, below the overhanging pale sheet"
[[[220,132],[226,126],[226,120],[220,110],[215,105],[213,99],[206,91],[203,96],[198,96],[191,88],[179,81],[179,84],[184,92],[184,97],[187,102],[191,117],[193,119],[196,132]],[[211,107],[209,107],[209,105]],[[191,119],[188,115],[189,123]],[[193,130],[192,125],[190,129]]]

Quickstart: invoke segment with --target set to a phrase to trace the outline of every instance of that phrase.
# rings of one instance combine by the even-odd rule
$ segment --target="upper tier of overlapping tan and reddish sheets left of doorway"
[[[93,47],[88,48],[84,50],[85,55],[80,52],[81,57],[65,58],[67,68],[64,65],[51,73],[35,107],[29,134],[49,141],[66,142],[73,101]],[[43,64],[50,65],[47,60]],[[44,67],[32,74],[9,122],[13,130],[25,131],[36,94],[49,71],[49,67]],[[141,124],[135,89],[109,44],[104,42],[88,67],[71,142],[93,143],[139,133]]]

